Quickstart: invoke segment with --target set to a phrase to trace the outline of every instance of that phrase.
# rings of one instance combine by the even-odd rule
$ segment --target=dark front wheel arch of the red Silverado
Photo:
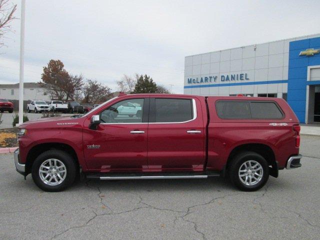
[[[31,172],[32,164],[35,160],[35,158],[41,154],[42,152],[45,152],[47,150],[51,149],[58,149],[65,151],[66,153],[70,154],[72,156],[72,159],[76,163],[77,166],[79,166],[79,160],[76,155],[75,150],[73,149],[72,146],[66,143],[60,143],[60,142],[45,142],[45,143],[40,143],[35,146],[33,146],[29,151],[26,156],[26,165],[25,165],[25,171],[26,174]]]

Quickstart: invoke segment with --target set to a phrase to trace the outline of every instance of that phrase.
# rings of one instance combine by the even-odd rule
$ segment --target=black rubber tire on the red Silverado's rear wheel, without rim
[[[248,160],[253,160],[253,161],[258,162],[261,165],[262,170],[263,170],[261,179],[253,185],[244,184],[240,180],[240,176],[239,176],[239,170],[240,170],[241,165]],[[269,167],[268,167],[267,161],[260,154],[253,152],[253,151],[244,151],[244,152],[237,154],[232,159],[231,165],[229,166],[229,169],[228,169],[228,174],[229,174],[231,182],[237,188],[239,188],[243,191],[255,191],[255,190],[260,189],[262,186],[264,186],[264,184],[268,180]]]

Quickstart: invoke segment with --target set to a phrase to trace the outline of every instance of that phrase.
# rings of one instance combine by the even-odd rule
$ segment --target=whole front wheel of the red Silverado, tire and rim
[[[44,191],[61,191],[71,185],[76,176],[72,157],[60,150],[48,150],[35,158],[32,179]]]

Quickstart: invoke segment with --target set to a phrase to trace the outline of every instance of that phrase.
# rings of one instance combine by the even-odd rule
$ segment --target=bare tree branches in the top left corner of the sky
[[[11,21],[16,19],[13,13],[16,10],[16,4],[10,4],[9,0],[0,0],[0,47],[3,46],[3,36],[11,30]]]

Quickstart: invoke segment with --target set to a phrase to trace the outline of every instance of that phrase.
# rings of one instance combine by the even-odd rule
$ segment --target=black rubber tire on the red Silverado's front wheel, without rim
[[[66,168],[66,175],[64,180],[57,185],[48,185],[44,183],[39,175],[39,167],[40,165],[49,158],[55,158],[63,162]],[[76,170],[77,165],[75,161],[72,159],[72,157],[61,150],[48,150],[45,152],[42,152],[40,155],[38,155],[33,164],[31,169],[32,179],[34,183],[41,188],[44,191],[61,191],[65,189],[66,187],[70,186],[76,177]]]

